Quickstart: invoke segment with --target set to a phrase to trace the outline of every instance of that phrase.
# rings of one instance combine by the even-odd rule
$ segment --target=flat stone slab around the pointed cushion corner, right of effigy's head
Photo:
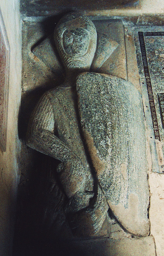
[[[117,46],[117,48],[115,48],[115,50],[113,48],[113,52],[110,54],[107,60],[102,64],[102,66],[100,66],[96,70],[91,67],[91,71],[127,79],[123,22],[121,20],[95,20],[94,24],[98,32],[98,48],[100,47],[99,41],[101,40],[101,38],[103,38],[103,40],[107,38],[109,46],[112,40],[113,41],[111,42],[112,48],[113,46],[114,48]],[[104,50],[105,49],[102,49],[101,54],[105,52]],[[94,67],[94,63],[93,63],[93,67]]]

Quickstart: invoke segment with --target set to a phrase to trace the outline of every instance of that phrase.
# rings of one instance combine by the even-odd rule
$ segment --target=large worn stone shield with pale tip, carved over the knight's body
[[[84,138],[109,208],[134,235],[149,233],[146,135],[140,92],[121,78],[77,78]]]

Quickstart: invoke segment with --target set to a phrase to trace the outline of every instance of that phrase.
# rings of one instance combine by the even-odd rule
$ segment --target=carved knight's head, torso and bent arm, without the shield
[[[108,205],[94,179],[82,140],[74,82],[79,72],[90,68],[96,51],[96,28],[88,18],[70,13],[59,21],[54,39],[66,80],[39,100],[26,141],[31,148],[60,161],[57,179],[67,198],[64,207],[72,233],[94,236],[105,221]]]

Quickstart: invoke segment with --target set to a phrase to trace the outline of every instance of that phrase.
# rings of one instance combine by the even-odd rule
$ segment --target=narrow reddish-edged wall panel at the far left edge
[[[6,151],[10,46],[0,11],[0,148]]]

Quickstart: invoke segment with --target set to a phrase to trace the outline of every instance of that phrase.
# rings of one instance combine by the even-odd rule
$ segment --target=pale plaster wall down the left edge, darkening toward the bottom
[[[12,255],[14,217],[19,182],[18,109],[21,95],[21,20],[18,0],[0,0],[10,43],[10,84],[7,149],[0,150],[0,256]]]

